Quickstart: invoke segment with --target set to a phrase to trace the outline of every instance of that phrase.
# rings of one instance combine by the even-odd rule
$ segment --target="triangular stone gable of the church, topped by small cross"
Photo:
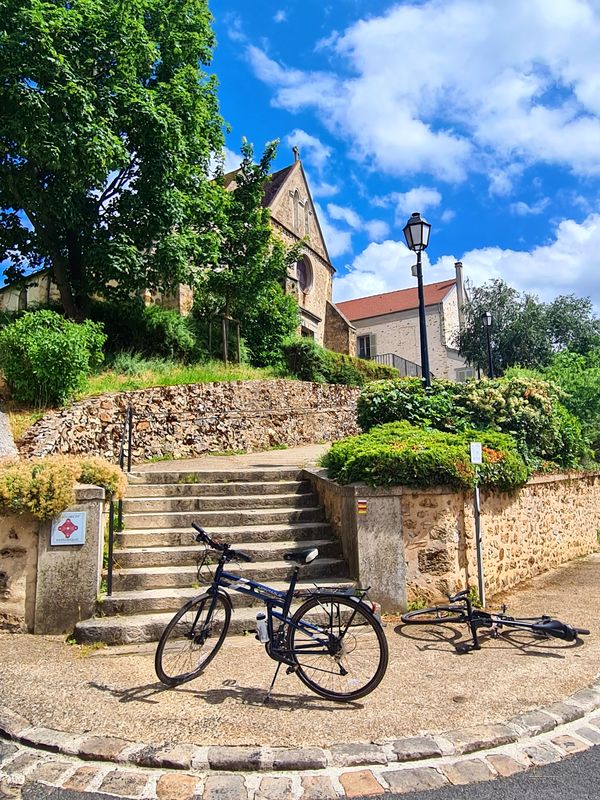
[[[270,183],[265,194],[274,222],[305,239],[311,250],[331,264],[301,162],[276,172]]]

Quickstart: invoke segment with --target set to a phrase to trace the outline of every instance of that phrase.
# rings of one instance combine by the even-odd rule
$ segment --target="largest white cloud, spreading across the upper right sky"
[[[600,175],[598,0],[406,2],[328,41],[337,72],[247,53],[277,106],[314,110],[374,169],[481,171],[500,195],[535,161]]]

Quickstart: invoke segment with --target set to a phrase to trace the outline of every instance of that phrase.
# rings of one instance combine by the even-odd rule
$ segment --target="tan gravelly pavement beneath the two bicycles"
[[[506,602],[515,615],[554,614],[592,635],[585,644],[487,639],[457,655],[464,631],[389,620],[390,664],[380,687],[335,704],[280,674],[251,636],[232,637],[203,676],[177,689],[156,681],[153,646],[91,650],[59,637],[0,635],[1,702],[32,722],[149,744],[320,745],[379,741],[496,722],[588,685],[600,663],[600,554],[523,584]]]

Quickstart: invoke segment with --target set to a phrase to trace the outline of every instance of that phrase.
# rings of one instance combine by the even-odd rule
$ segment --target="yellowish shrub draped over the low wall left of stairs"
[[[0,467],[0,509],[50,519],[75,502],[75,484],[93,483],[122,497],[126,480],[104,459],[51,456]]]

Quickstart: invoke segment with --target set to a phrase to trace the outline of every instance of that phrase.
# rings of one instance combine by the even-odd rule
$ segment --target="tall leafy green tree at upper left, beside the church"
[[[194,284],[224,192],[206,0],[3,0],[0,261],[50,267],[63,307]]]

